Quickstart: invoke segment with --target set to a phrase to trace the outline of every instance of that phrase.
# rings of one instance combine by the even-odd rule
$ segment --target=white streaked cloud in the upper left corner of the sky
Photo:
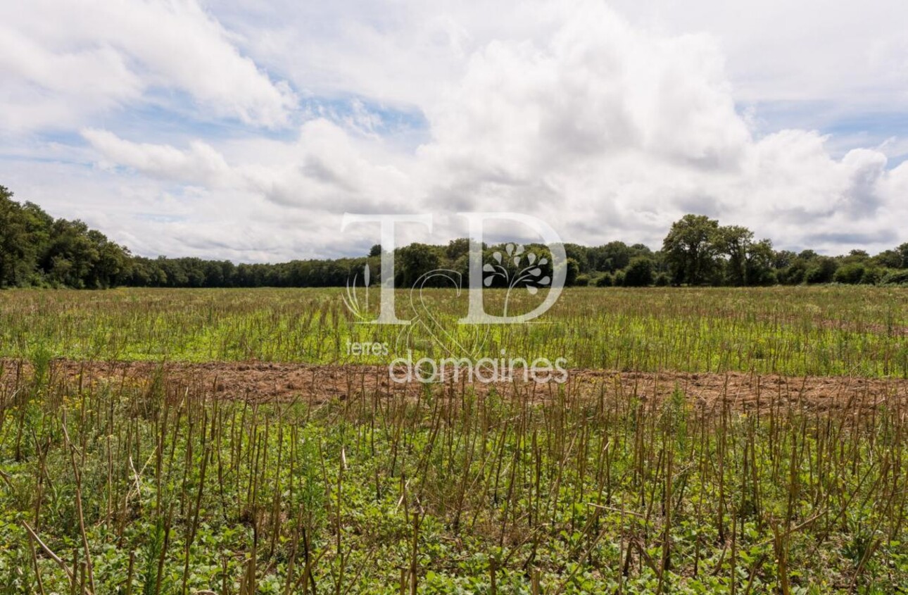
[[[0,76],[0,130],[13,132],[77,126],[155,88],[268,127],[295,104],[195,0],[2,3]]]

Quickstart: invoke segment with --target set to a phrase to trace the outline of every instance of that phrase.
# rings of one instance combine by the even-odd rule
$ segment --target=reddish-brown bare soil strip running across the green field
[[[147,388],[154,382],[170,394],[192,394],[218,399],[259,402],[327,402],[351,397],[419,397],[427,386],[398,383],[384,365],[307,365],[268,362],[76,362],[54,360],[48,371],[51,382],[70,387],[86,383],[120,384]],[[32,365],[0,359],[0,391],[25,386]],[[497,392],[506,398],[545,401],[556,398],[636,397],[640,402],[660,402],[676,389],[697,408],[712,409],[726,403],[736,409],[764,409],[796,404],[808,409],[854,408],[862,410],[908,402],[908,380],[846,377],[786,377],[741,372],[617,372],[570,370],[568,382],[538,383],[522,378],[512,382],[444,382],[431,385],[439,395],[461,398],[474,392]]]

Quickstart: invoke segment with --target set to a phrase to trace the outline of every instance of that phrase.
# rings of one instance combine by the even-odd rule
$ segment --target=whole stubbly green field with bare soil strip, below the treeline
[[[908,592],[908,293],[543,321],[482,349],[612,372],[395,387],[335,290],[0,293],[0,593]]]

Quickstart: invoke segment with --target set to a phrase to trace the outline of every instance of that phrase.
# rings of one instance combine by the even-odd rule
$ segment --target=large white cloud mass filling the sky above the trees
[[[899,237],[908,162],[889,167],[879,147],[835,155],[812,130],[761,133],[755,114],[736,103],[716,35],[654,33],[598,2],[533,7],[535,19],[493,31],[471,15],[411,8],[397,29],[357,28],[369,47],[339,54],[346,30],[303,45],[338,58],[333,76],[311,58],[288,57],[297,40],[286,24],[266,22],[263,40],[231,34],[183,0],[91,6],[114,19],[116,34],[78,10],[66,34],[13,19],[19,37],[0,39],[20,55],[0,58],[13,79],[0,95],[12,109],[0,125],[77,126],[102,193],[153,181],[116,207],[125,216],[104,221],[147,253],[278,260],[355,252],[369,238],[339,236],[344,211],[439,213],[435,235],[407,238],[436,242],[463,233],[448,215],[464,210],[536,214],[566,240],[589,244],[656,246],[691,212],[748,225],[782,247],[839,252],[908,241]],[[173,35],[146,33],[146,19],[171,25]],[[414,47],[424,52],[411,56]],[[31,63],[26,51],[40,59]],[[374,72],[376,56],[398,84]],[[78,80],[65,75],[73,69]],[[163,139],[148,134],[158,139],[150,142],[88,116],[161,87],[239,120],[243,134],[209,138],[190,126]],[[342,115],[295,103],[331,93],[417,112],[424,130],[415,140],[376,132],[388,114],[358,100]],[[296,132],[256,133],[269,127]],[[148,204],[173,217],[153,216]],[[143,229],[160,240],[143,239]]]

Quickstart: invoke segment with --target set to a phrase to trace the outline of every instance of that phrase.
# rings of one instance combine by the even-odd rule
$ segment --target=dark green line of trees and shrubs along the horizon
[[[498,262],[507,274],[492,286],[518,278],[541,280],[551,274],[544,246],[483,246],[486,262]],[[568,285],[732,285],[801,283],[908,284],[908,243],[871,256],[853,250],[824,256],[812,250],[776,251],[769,240],[737,225],[722,226],[705,215],[688,214],[672,224],[662,249],[610,242],[587,247],[565,244]],[[412,243],[395,251],[396,284],[410,287],[424,273],[450,269],[466,275],[469,241],[435,246]],[[530,261],[529,253],[537,260]],[[498,254],[496,254],[498,253]],[[201,258],[144,258],[110,242],[81,221],[54,219],[35,203],[20,204],[0,186],[0,287],[72,287],[103,289],[142,287],[331,287],[350,282],[368,263],[373,279],[380,274],[381,248],[368,256],[277,264],[234,264]],[[498,256],[498,258],[496,258]],[[515,262],[516,261],[516,262]],[[531,272],[521,277],[521,272]],[[444,285],[432,278],[427,285]],[[544,284],[544,283],[543,283]]]

